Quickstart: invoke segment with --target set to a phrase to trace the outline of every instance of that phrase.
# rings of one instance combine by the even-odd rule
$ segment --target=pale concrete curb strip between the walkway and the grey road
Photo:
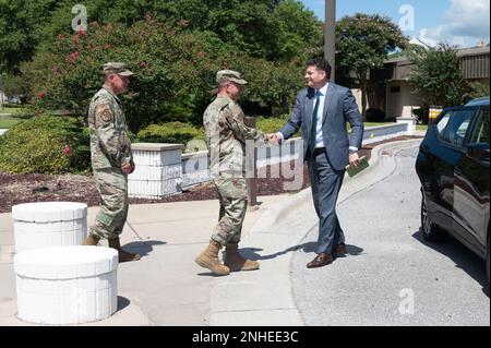
[[[421,141],[416,139],[375,146],[369,160],[370,167],[354,178],[345,178],[348,180],[342,188],[338,203],[394,171],[394,156],[385,151],[411,147]],[[303,326],[292,296],[290,265],[297,247],[316,225],[310,188],[264,212],[241,241],[241,252],[248,259],[267,262],[261,263],[261,272],[239,272],[214,279],[206,321],[208,325]],[[255,251],[261,251],[261,255]]]

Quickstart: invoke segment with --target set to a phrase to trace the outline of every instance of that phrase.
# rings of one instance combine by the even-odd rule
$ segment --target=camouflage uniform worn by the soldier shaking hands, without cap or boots
[[[227,96],[206,108],[203,124],[209,152],[209,170],[220,202],[219,221],[212,240],[239,243],[248,204],[246,140],[267,142],[267,135],[243,123],[240,106]]]

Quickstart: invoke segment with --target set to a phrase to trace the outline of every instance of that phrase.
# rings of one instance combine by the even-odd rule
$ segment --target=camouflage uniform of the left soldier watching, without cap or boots
[[[88,108],[94,179],[100,193],[100,211],[91,235],[113,239],[122,232],[128,216],[128,176],[121,166],[133,161],[124,112],[119,98],[103,87]]]

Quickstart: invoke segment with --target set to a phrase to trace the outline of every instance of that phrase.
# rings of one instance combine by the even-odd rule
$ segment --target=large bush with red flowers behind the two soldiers
[[[135,73],[121,96],[133,132],[160,122],[201,124],[213,97],[215,73],[224,68],[239,70],[250,81],[242,99],[246,105],[288,108],[303,83],[301,63],[275,65],[251,58],[215,34],[192,32],[187,25],[146,16],[130,28],[93,22],[86,32],[59,35],[49,50],[22,67],[35,109],[86,115],[108,61],[123,61]]]

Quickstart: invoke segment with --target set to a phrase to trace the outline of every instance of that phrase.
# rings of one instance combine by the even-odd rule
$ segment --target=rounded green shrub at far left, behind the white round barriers
[[[77,119],[38,116],[15,124],[0,137],[0,170],[5,172],[80,172],[89,166],[88,131]]]

